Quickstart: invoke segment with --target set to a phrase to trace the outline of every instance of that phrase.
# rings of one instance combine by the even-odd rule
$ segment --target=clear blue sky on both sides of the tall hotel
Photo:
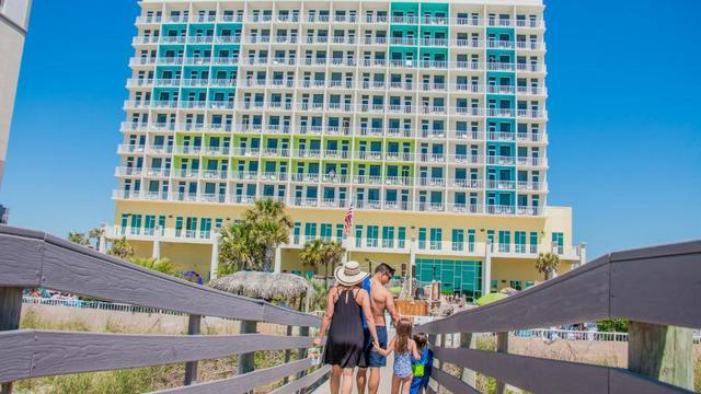
[[[545,4],[548,204],[573,207],[589,259],[701,239],[701,1]],[[0,189],[10,224],[62,236],[113,223],[138,13],[34,1]]]

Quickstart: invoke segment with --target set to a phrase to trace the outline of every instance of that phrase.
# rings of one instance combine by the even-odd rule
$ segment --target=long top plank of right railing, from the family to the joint
[[[494,333],[609,316],[608,258],[586,264],[507,299],[424,324],[424,333]]]

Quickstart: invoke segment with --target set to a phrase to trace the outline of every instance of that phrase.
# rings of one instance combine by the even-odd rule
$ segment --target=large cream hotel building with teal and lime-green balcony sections
[[[275,198],[285,271],[349,206],[352,259],[470,297],[585,260],[547,204],[541,0],[140,5],[108,237],[207,278],[217,229]]]

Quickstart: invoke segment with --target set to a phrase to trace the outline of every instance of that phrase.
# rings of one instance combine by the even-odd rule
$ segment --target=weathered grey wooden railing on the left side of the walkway
[[[24,288],[186,313],[188,335],[120,335],[18,329]],[[0,227],[0,383],[26,378],[185,362],[185,385],[168,393],[246,393],[296,375],[275,393],[295,393],[329,372],[309,374],[304,349],[317,316],[229,294],[143,269],[43,232]],[[241,321],[240,335],[198,335],[202,316]],[[299,327],[298,336],[256,333],[256,322]],[[288,331],[290,332],[290,331]],[[254,370],[253,355],[298,350],[298,360]],[[239,355],[239,374],[197,383],[197,361]]]

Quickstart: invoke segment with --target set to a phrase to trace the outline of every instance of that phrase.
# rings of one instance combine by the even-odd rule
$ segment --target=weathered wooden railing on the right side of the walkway
[[[630,320],[628,370],[508,354],[510,331],[606,318]],[[531,393],[644,394],[691,393],[691,328],[698,327],[701,241],[611,253],[516,296],[416,329],[429,334],[435,345],[432,385],[452,393],[479,393],[476,371],[494,378],[499,394],[506,384]],[[472,333],[497,333],[496,351],[475,349]],[[446,335],[460,335],[460,346],[446,347]],[[449,370],[446,363],[455,367]]]

